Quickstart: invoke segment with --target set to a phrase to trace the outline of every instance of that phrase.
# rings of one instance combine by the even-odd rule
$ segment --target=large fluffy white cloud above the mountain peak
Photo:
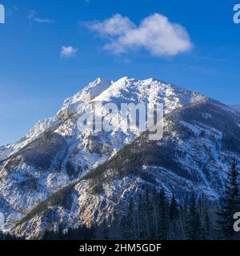
[[[86,26],[109,40],[104,49],[114,54],[145,49],[157,57],[174,56],[192,47],[186,29],[170,22],[162,14],[146,17],[139,26],[121,14],[115,14],[103,22],[87,22]]]

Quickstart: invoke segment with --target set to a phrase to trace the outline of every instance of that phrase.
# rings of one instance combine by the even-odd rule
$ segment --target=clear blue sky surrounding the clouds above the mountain
[[[6,8],[6,24],[0,24],[0,145],[21,138],[39,119],[53,116],[65,98],[97,77],[154,77],[222,102],[240,103],[240,24],[233,22],[238,1],[0,3]],[[170,26],[174,22],[186,29],[191,46],[182,53],[159,54],[149,45],[135,50],[135,41],[120,54],[116,48],[106,50],[110,42],[122,39],[122,34],[111,38],[113,34],[101,32],[102,22],[114,14],[127,18],[134,28],[142,28],[147,17],[164,15]],[[149,43],[146,38],[144,43]]]

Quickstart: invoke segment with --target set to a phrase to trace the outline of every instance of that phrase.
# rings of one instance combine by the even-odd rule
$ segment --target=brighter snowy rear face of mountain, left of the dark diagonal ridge
[[[66,99],[54,118],[38,122],[26,137],[0,149],[0,212],[5,214],[6,226],[106,162],[140,134],[139,130],[79,131],[76,110],[82,102],[162,102],[167,114],[204,99],[153,78],[116,82],[97,78]]]

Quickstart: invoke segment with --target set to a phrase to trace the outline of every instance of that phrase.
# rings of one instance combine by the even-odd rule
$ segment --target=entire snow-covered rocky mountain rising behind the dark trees
[[[163,103],[164,138],[147,142],[144,134],[138,138],[136,129],[79,131],[78,106],[99,101]],[[239,152],[239,120],[237,111],[219,102],[153,78],[97,78],[66,99],[54,118],[38,122],[24,138],[0,148],[0,212],[6,227],[32,237],[59,222],[66,227],[101,222],[116,206],[121,209],[128,194],[153,183],[145,176],[169,194],[176,191],[178,198],[196,190],[214,201],[222,191],[229,159]],[[119,155],[129,167],[124,175],[112,177],[113,162],[121,173]],[[139,155],[144,159],[134,162]],[[102,192],[90,193],[101,177],[106,178],[99,185]]]

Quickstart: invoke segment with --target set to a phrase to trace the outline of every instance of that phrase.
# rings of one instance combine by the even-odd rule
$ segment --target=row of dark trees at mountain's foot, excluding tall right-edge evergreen
[[[113,213],[100,225],[92,228],[80,226],[76,229],[46,230],[43,240],[91,240],[91,239],[211,239],[212,220],[205,205],[197,204],[192,195],[188,206],[178,206],[174,195],[169,200],[164,190],[145,190],[137,200],[130,198],[126,214]],[[200,209],[201,208],[201,209]],[[0,239],[2,239],[0,233]],[[14,240],[10,236],[4,239]]]

